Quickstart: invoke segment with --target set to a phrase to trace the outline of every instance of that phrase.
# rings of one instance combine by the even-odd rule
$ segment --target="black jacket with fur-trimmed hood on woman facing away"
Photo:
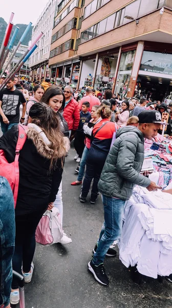
[[[35,129],[29,128],[28,138],[19,155],[19,187],[16,216],[43,214],[50,202],[54,202],[61,182],[61,160],[50,171],[51,149]],[[9,163],[15,159],[18,125],[13,126],[0,139]]]

